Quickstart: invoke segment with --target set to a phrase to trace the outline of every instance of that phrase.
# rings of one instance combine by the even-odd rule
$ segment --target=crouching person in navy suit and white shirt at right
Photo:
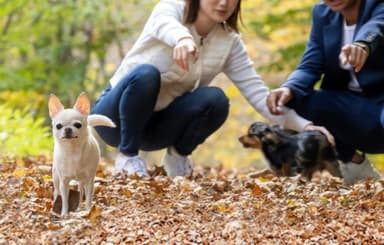
[[[379,179],[364,153],[384,153],[384,1],[316,4],[302,60],[267,104],[272,114],[291,107],[333,134],[345,183]]]

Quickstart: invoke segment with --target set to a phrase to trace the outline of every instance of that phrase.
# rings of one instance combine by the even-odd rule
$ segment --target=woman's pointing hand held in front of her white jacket
[[[181,38],[173,49],[173,60],[181,68],[189,71],[188,57],[192,56],[192,62],[195,63],[199,57],[195,41],[190,37]]]

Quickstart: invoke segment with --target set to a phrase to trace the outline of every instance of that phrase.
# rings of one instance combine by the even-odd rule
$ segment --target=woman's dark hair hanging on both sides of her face
[[[242,23],[241,20],[241,0],[238,1],[235,10],[232,15],[226,20],[228,26],[230,26],[236,32],[239,32],[239,22]],[[200,0],[185,0],[185,8],[184,8],[184,23],[192,24],[196,21],[197,15],[200,9]]]

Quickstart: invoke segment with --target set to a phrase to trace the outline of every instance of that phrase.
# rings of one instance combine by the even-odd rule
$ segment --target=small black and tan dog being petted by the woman
[[[255,122],[239,141],[244,147],[260,149],[277,176],[301,174],[310,180],[316,171],[326,169],[341,177],[336,151],[320,131],[298,133]]]

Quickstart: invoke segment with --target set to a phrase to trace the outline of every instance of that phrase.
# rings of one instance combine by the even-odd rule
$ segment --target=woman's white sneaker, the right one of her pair
[[[173,147],[167,149],[163,156],[162,164],[169,177],[192,175],[192,161],[186,156],[176,152]]]

